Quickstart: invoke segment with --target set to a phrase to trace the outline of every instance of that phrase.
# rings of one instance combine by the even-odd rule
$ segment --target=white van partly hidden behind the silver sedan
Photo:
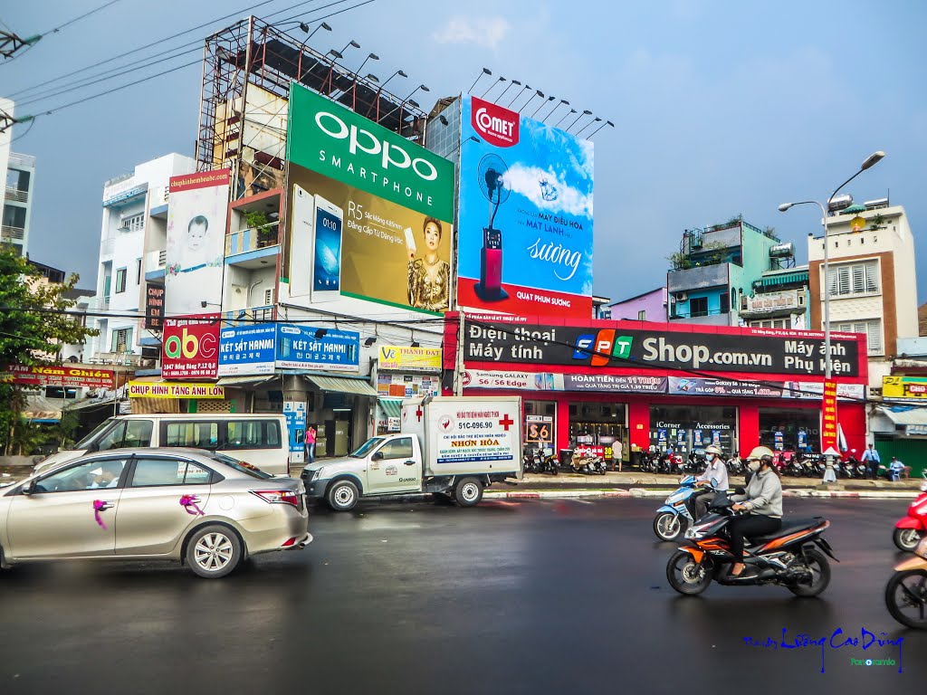
[[[132,447],[208,449],[248,461],[273,475],[289,474],[286,417],[267,413],[159,413],[109,418],[74,449],[64,449],[35,465],[41,473],[94,451]]]

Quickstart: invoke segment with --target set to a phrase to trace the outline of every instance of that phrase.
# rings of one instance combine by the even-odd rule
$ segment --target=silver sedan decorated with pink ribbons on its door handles
[[[202,449],[119,449],[0,487],[0,567],[173,560],[197,575],[311,543],[305,487]]]

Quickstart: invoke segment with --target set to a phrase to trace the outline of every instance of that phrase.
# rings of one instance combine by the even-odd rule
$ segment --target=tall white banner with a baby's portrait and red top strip
[[[201,313],[204,301],[222,302],[229,170],[172,176],[170,185],[164,309],[168,316]]]

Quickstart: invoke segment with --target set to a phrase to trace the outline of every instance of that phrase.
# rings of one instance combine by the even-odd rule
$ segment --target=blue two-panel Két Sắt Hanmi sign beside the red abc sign
[[[290,323],[223,328],[219,375],[273,374],[276,369],[359,372],[361,334]]]

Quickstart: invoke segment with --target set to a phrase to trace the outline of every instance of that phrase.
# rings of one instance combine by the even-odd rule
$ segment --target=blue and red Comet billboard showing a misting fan
[[[476,96],[462,119],[459,304],[590,316],[592,144]]]

